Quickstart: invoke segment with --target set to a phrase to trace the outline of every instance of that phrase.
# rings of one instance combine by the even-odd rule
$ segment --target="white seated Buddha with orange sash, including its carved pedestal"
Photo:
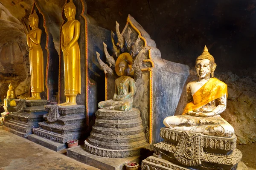
[[[142,170],[238,167],[242,154],[236,149],[234,128],[219,115],[226,109],[227,85],[213,77],[216,64],[206,46],[197,57],[195,68],[198,80],[186,87],[188,103],[183,114],[163,120],[163,142],[153,145],[155,153],[142,161]]]

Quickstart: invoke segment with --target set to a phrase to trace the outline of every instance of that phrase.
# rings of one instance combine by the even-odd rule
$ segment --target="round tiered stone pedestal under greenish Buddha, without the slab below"
[[[138,109],[128,112],[99,109],[84,149],[97,156],[123,158],[138,156],[148,146]]]

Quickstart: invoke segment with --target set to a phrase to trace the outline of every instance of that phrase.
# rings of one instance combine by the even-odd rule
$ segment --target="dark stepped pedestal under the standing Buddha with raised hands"
[[[47,100],[15,99],[15,102],[16,112],[9,114],[11,119],[4,123],[4,130],[27,137],[32,133],[32,128],[38,127],[38,122],[44,121],[43,116],[47,113],[44,105],[47,105]]]

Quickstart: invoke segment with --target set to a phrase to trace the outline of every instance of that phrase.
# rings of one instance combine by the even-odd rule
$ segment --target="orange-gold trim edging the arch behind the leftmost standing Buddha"
[[[48,79],[48,68],[49,68],[49,49],[48,49],[48,40],[49,40],[49,34],[48,34],[48,31],[47,31],[47,27],[46,27],[46,21],[45,21],[45,17],[44,17],[44,14],[43,12],[41,11],[41,9],[38,7],[38,4],[36,3],[36,1],[34,0],[34,3],[33,3],[33,6],[32,6],[32,10],[31,10],[31,13],[33,13],[34,9],[35,9],[35,6],[36,8],[38,9],[39,13],[43,16],[43,19],[44,19],[44,24],[43,24],[43,27],[44,27],[44,32],[46,33],[46,45],[45,45],[45,49],[47,51],[47,64],[46,64],[46,73],[45,73],[45,86],[46,86],[46,94],[47,94],[47,100],[49,100],[49,88],[48,88],[48,84],[47,84],[47,79]]]

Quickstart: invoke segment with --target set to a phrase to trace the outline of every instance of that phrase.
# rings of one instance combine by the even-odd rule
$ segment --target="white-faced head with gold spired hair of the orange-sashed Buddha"
[[[203,53],[195,60],[195,69],[198,77],[201,79],[210,77],[210,75],[214,77],[216,66],[213,56],[208,52],[208,48],[205,45]]]

